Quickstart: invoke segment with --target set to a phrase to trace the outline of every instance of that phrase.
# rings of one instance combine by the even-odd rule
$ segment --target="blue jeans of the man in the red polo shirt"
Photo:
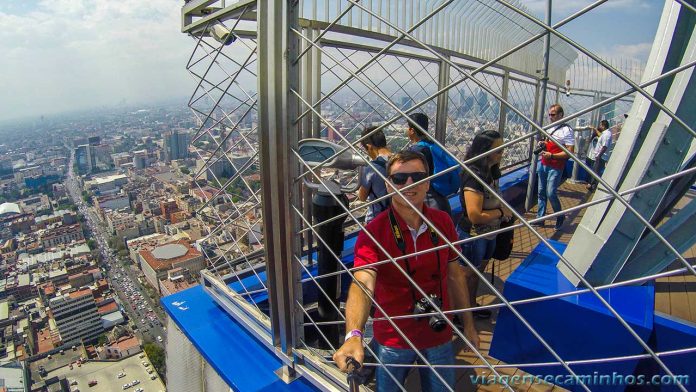
[[[431,365],[454,365],[454,350],[452,349],[452,342],[447,342],[440,346],[435,346],[431,348],[426,348],[421,350],[421,354],[428,360]],[[412,365],[414,362],[418,361],[421,363],[420,358],[416,355],[416,352],[411,349],[402,348],[391,348],[377,344],[377,356],[379,360],[385,365],[389,364],[403,364]],[[377,391],[387,392],[387,391],[400,391],[399,385],[403,386],[404,381],[406,381],[406,376],[411,370],[407,366],[400,367],[390,367],[387,366],[389,372],[379,366],[377,368]],[[435,392],[446,390],[445,386],[442,385],[437,376],[427,367],[418,368],[421,376],[421,390],[425,392]],[[454,369],[453,368],[436,368],[437,373],[447,382],[447,385],[454,389]],[[394,382],[396,379],[398,384]]]

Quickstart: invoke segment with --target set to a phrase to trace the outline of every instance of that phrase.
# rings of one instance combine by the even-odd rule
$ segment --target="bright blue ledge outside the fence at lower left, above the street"
[[[283,365],[280,360],[220,308],[202,286],[164,297],[161,303],[177,327],[233,390],[316,390],[302,378],[290,384],[280,380],[274,373]]]

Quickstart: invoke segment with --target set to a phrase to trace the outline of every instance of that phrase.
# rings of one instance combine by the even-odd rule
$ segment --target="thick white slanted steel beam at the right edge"
[[[652,79],[680,64],[696,59],[694,15],[675,3],[666,3],[658,34],[653,44],[644,79]],[[649,92],[676,113],[689,126],[696,124],[696,78],[689,68],[673,78],[651,86]],[[678,172],[694,138],[681,124],[673,121],[654,102],[643,96],[636,99],[621,138],[609,160],[603,180],[619,191],[636,187]],[[636,192],[626,198],[631,208],[650,220],[659,210],[669,183]],[[608,193],[598,188],[595,199]],[[645,233],[646,226],[619,202],[594,205],[585,212],[564,253],[570,263],[593,285],[613,282]],[[654,235],[654,233],[651,233]],[[659,238],[656,236],[656,238]],[[664,242],[661,241],[664,245]],[[678,258],[678,254],[673,254]],[[637,260],[637,259],[634,259]],[[651,261],[641,259],[632,271],[648,271]],[[565,265],[559,266],[574,284],[579,278]],[[634,273],[632,273],[634,274]]]

